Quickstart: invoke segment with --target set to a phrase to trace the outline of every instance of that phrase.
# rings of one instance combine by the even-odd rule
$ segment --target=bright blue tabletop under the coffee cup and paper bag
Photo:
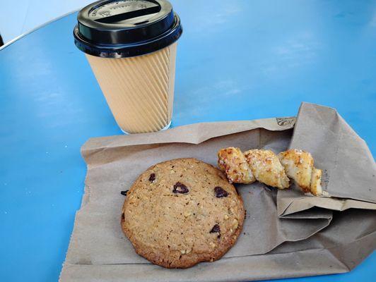
[[[172,126],[332,106],[376,152],[375,1],[172,1],[179,41]],[[80,207],[89,137],[117,135],[74,46],[76,13],[0,51],[0,281],[57,281]],[[371,281],[376,253],[348,274]],[[373,280],[374,281],[374,280]]]

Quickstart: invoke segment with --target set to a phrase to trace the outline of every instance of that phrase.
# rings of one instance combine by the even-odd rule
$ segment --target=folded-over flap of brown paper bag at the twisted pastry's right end
[[[303,103],[289,147],[311,152],[315,166],[324,172],[323,189],[331,197],[307,197],[298,190],[280,190],[279,215],[311,207],[376,209],[375,161],[364,140],[336,110]]]

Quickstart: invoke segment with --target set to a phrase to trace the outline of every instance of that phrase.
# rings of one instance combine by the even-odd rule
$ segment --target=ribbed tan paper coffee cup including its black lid
[[[181,34],[180,18],[165,0],[98,1],[78,13],[76,46],[124,133],[170,126]]]

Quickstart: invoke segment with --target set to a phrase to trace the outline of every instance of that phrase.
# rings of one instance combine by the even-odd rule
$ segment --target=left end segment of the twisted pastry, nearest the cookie
[[[239,148],[228,147],[218,151],[218,166],[230,183],[252,183],[255,178],[244,154]]]

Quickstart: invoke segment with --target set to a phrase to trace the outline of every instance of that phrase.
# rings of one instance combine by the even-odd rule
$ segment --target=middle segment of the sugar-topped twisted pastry
[[[264,149],[251,149],[244,154],[247,163],[252,168],[254,177],[259,182],[279,189],[289,187],[289,179],[274,152]]]

